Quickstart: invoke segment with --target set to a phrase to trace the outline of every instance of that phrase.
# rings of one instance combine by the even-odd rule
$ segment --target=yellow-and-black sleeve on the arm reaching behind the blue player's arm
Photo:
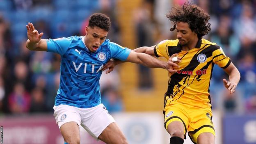
[[[169,59],[168,50],[167,50],[167,44],[169,43],[169,40],[163,40],[160,43],[158,43],[154,48],[154,53],[156,57],[165,57],[166,59]]]

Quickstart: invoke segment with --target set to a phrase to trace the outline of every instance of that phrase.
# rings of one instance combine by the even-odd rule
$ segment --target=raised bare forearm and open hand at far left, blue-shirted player
[[[38,33],[37,30],[35,30],[32,23],[28,23],[26,25],[27,27],[27,42],[26,47],[29,50],[38,50],[38,51],[47,51],[47,43],[46,39],[41,39],[43,36],[43,33]]]

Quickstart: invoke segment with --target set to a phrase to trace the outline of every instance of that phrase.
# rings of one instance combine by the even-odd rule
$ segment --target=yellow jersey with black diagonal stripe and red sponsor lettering
[[[214,64],[225,69],[231,63],[221,47],[206,39],[200,39],[196,48],[188,51],[181,50],[176,40],[165,40],[154,48],[156,57],[165,57],[167,60],[174,53],[178,53],[181,62],[177,73],[169,73],[168,89],[165,93],[165,106],[170,103],[186,103],[197,107],[211,107],[210,79]],[[171,99],[168,101],[167,99]]]

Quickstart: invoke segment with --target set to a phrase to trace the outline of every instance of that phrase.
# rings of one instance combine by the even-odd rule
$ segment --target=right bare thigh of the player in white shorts
[[[116,122],[110,123],[101,135],[99,135],[98,139],[101,139],[107,144],[128,144]]]

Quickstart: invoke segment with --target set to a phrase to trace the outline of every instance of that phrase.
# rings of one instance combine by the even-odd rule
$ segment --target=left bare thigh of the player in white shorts
[[[69,144],[80,144],[79,126],[76,122],[71,121],[64,123],[59,130],[65,142]]]

